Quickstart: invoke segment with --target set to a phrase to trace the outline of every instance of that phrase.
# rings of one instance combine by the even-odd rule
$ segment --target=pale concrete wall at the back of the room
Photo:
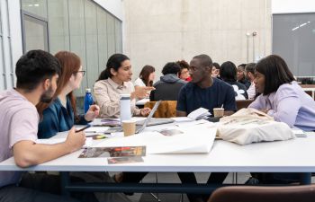
[[[208,54],[237,65],[271,52],[271,0],[124,0],[124,53],[144,65]],[[252,33],[257,31],[253,38]],[[247,36],[247,33],[249,36]],[[247,44],[248,42],[248,44]],[[253,44],[254,42],[254,44]]]

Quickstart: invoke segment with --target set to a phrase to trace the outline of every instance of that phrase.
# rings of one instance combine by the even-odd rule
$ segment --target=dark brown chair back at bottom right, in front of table
[[[216,189],[208,202],[312,202],[315,184],[286,187],[238,186]]]

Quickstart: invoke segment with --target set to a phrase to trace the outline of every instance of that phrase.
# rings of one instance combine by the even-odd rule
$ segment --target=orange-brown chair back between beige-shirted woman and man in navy
[[[157,101],[148,101],[144,104],[145,108],[152,109]],[[172,118],[176,117],[177,101],[161,101],[157,111],[154,113],[154,118]]]

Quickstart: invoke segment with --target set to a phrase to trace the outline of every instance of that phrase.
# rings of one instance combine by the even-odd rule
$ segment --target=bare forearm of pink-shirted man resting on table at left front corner
[[[43,145],[20,141],[14,145],[14,161],[20,167],[29,167],[70,154],[73,150],[67,143]]]

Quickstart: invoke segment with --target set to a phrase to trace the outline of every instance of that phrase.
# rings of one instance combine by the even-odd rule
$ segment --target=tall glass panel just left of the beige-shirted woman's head
[[[85,39],[87,87],[93,88],[98,77],[96,4],[85,0]]]

